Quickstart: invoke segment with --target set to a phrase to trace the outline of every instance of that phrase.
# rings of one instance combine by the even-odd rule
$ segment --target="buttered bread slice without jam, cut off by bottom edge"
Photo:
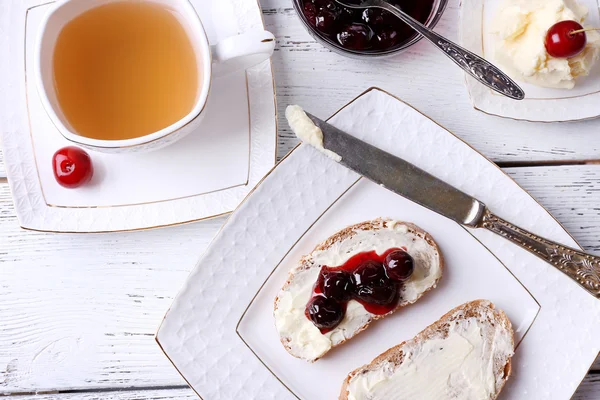
[[[340,400],[485,399],[511,373],[514,334],[504,312],[476,300],[352,371]]]

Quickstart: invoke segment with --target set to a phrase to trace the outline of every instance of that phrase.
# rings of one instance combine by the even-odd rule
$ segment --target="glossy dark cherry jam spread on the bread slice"
[[[338,267],[322,266],[306,316],[325,334],[342,322],[350,300],[358,301],[371,314],[387,314],[398,305],[402,282],[413,270],[410,254],[398,248],[381,255],[358,253]]]

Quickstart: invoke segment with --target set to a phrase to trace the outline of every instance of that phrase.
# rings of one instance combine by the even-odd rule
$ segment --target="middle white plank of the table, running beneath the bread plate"
[[[508,172],[585,248],[600,249],[600,165]],[[104,235],[24,231],[1,183],[0,393],[183,384],[153,334],[223,221]]]

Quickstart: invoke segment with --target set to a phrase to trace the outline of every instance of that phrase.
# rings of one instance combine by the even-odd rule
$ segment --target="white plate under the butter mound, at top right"
[[[461,44],[467,49],[495,62],[497,38],[490,33],[490,24],[503,0],[463,0],[461,6]],[[600,26],[598,0],[578,0],[587,6],[587,26]],[[501,65],[499,65],[501,67]],[[575,88],[541,88],[518,81],[525,91],[525,100],[514,101],[481,85],[471,77],[466,84],[473,106],[500,117],[541,121],[577,121],[600,116],[600,66],[590,75],[577,79]]]

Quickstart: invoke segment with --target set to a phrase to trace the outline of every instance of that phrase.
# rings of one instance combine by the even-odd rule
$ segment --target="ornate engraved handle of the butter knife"
[[[480,226],[547,261],[600,298],[600,257],[534,235],[489,211],[485,212]]]

